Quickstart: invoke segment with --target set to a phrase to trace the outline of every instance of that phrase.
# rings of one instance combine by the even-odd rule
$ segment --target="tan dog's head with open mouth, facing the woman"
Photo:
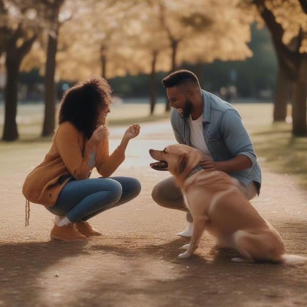
[[[184,181],[203,157],[200,150],[183,144],[169,145],[164,150],[149,149],[149,154],[158,160],[150,163],[151,168],[168,170],[179,181]]]

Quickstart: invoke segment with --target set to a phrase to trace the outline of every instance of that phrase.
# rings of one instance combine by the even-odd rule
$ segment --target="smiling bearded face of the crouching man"
[[[184,118],[188,118],[192,112],[193,104],[177,86],[166,88],[170,106],[176,109]]]

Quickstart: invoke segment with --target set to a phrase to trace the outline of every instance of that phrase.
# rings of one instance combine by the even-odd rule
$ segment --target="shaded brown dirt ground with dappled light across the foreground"
[[[278,230],[291,253],[306,253],[307,226],[285,223]],[[292,240],[303,242],[292,247]],[[218,248],[207,235],[196,254],[179,260],[187,241],[156,244],[144,236],[1,245],[0,297],[14,306],[49,306],[63,298],[61,305],[74,306],[304,305],[306,267],[236,264],[230,259],[238,253]]]

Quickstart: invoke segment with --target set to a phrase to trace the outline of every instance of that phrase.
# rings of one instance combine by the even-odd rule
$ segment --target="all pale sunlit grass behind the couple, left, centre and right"
[[[239,103],[234,106],[242,115],[251,135],[260,164],[270,167],[273,171],[293,175],[294,180],[306,188],[307,138],[293,137],[291,124],[272,123],[272,104]],[[148,108],[147,104],[139,103],[113,105],[112,112],[109,114],[109,125],[128,126],[135,122],[144,123],[169,118],[169,114],[164,113],[162,103],[157,105],[156,112],[152,116],[148,116]],[[23,105],[19,106],[18,112],[20,140],[14,143],[0,142],[1,153],[8,155],[11,152],[10,157],[7,157],[10,160],[8,164],[19,159],[20,151],[25,152],[26,155],[31,155],[32,150],[47,152],[46,142],[49,143],[51,140],[49,137],[40,137],[42,106]],[[3,114],[1,109],[0,114]],[[2,128],[0,125],[0,133]],[[28,146],[30,143],[31,147]],[[2,171],[8,171],[7,166],[4,165],[4,167]]]

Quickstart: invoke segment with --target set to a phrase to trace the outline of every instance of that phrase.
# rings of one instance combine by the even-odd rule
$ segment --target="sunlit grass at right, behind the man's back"
[[[272,104],[236,107],[249,130],[260,164],[293,176],[297,184],[306,188],[307,137],[294,137],[290,123],[273,123]]]

